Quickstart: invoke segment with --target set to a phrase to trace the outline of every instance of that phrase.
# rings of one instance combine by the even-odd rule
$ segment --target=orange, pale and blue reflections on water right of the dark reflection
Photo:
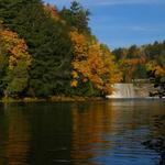
[[[163,114],[164,102],[113,100],[74,105],[72,158],[75,164],[152,165],[154,151],[141,143],[153,127],[152,117]]]

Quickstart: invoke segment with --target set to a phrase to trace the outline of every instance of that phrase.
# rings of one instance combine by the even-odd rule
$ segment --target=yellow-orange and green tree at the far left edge
[[[1,86],[4,88],[4,96],[19,95],[28,87],[30,78],[31,55],[28,53],[26,43],[19,38],[16,33],[1,30],[0,45],[1,64],[6,65],[1,66]]]

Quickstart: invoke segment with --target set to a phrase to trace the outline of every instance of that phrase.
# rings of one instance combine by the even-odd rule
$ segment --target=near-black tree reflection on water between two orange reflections
[[[70,164],[69,103],[29,105],[32,125],[32,165]]]

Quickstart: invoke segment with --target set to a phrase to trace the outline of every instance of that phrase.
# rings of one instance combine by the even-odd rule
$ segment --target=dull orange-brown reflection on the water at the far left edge
[[[0,110],[0,164],[28,165],[31,130],[26,116],[18,107]]]

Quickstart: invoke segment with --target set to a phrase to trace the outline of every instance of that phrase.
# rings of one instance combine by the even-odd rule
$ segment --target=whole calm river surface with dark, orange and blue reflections
[[[154,165],[160,100],[0,105],[2,165]]]

